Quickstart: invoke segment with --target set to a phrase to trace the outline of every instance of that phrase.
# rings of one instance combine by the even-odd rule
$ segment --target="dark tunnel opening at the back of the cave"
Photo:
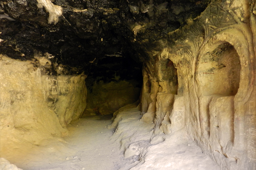
[[[86,78],[87,105],[84,116],[108,115],[139,100],[141,63],[122,55],[105,56],[92,66]]]

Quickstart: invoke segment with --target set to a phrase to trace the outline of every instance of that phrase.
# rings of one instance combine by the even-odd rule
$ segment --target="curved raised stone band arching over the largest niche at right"
[[[211,49],[217,48],[218,45],[228,42],[234,46],[239,59],[240,59],[240,84],[237,94],[235,95],[235,103],[244,104],[247,102],[253,90],[253,83],[255,73],[253,72],[253,67],[255,66],[255,54],[253,53],[252,37],[251,33],[247,30],[240,30],[240,28],[230,27],[226,28],[224,31],[220,30],[216,32],[209,40],[207,40],[201,50],[198,60],[200,61],[200,56],[204,56],[205,53],[211,51]],[[213,48],[215,44],[215,48]],[[197,76],[196,72],[196,75]],[[200,95],[200,94],[199,94]],[[238,104],[237,103],[237,104]]]

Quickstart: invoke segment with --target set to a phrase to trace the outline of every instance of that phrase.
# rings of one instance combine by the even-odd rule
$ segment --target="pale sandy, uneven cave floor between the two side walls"
[[[67,143],[48,141],[32,156],[10,162],[23,170],[219,169],[193,142],[175,135],[154,137],[153,123],[140,118],[138,109],[128,109],[119,115],[116,130],[107,128],[113,122],[109,116],[81,118],[68,126]]]

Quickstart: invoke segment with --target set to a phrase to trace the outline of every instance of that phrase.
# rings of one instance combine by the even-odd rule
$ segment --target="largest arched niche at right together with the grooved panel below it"
[[[207,45],[197,63],[202,134],[224,156],[227,151],[222,148],[230,148],[227,146],[234,143],[234,97],[239,89],[240,73],[240,56],[226,41]]]

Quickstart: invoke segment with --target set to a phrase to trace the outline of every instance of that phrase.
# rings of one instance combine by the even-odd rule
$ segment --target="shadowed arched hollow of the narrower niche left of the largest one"
[[[159,62],[158,78],[163,91],[177,95],[178,74],[177,69],[170,59],[164,58]]]

